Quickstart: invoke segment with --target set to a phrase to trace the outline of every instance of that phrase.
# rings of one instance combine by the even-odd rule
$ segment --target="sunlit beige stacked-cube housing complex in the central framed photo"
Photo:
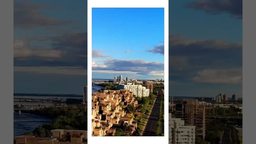
[[[104,90],[92,93],[92,136],[114,136],[113,125],[127,124],[135,131],[132,118],[124,108],[128,105],[138,106],[130,90]]]

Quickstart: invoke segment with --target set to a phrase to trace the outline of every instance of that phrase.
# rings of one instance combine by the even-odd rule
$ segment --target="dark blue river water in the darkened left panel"
[[[36,127],[51,122],[50,118],[29,113],[18,115],[18,112],[14,112],[13,117],[14,136],[20,136],[25,132],[32,132]]]

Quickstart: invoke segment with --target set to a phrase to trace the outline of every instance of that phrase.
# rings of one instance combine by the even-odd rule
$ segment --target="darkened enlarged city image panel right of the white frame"
[[[169,1],[169,142],[242,143],[242,0]]]

